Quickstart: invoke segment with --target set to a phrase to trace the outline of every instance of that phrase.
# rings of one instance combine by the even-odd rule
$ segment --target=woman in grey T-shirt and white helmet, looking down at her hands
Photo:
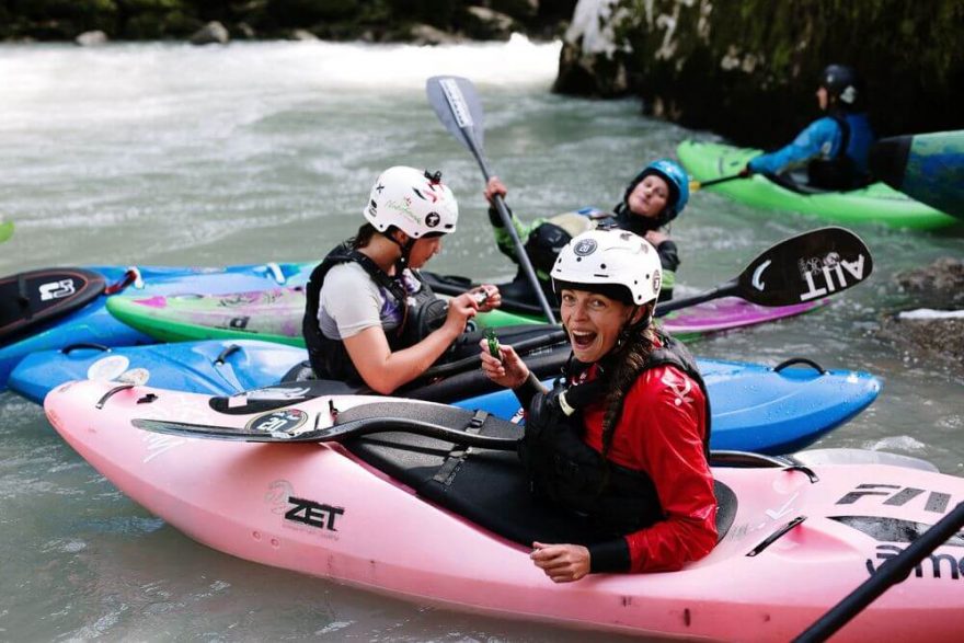
[[[357,236],[311,274],[302,333],[315,377],[388,394],[425,372],[501,297],[485,285],[445,302],[418,275],[458,221],[440,172],[389,168],[363,214]]]

